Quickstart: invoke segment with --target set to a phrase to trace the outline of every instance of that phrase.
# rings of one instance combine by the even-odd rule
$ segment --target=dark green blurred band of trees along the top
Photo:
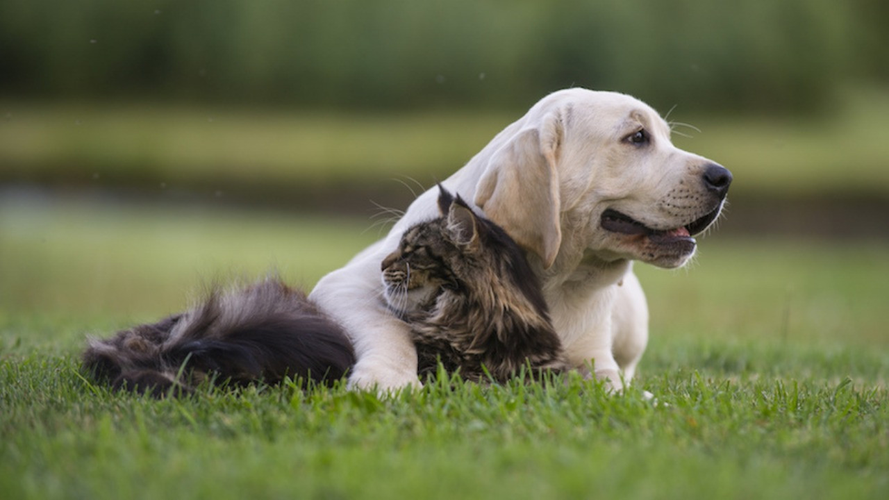
[[[819,109],[889,79],[885,0],[7,0],[6,97],[524,108],[570,85],[661,109]]]

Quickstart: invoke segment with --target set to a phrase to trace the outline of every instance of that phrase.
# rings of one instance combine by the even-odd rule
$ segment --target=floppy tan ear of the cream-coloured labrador
[[[556,169],[561,143],[561,119],[551,113],[495,151],[476,187],[475,202],[485,216],[540,255],[547,268],[562,244]]]

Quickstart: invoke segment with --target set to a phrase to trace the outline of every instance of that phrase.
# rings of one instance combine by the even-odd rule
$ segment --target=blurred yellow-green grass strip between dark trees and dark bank
[[[341,182],[394,186],[393,177],[429,185],[522,112],[343,115],[4,101],[0,181],[266,193]],[[824,116],[688,116],[682,109],[669,116],[700,128],[677,125],[674,141],[733,170],[736,195],[884,198],[887,117],[889,93],[869,88],[839,95]]]

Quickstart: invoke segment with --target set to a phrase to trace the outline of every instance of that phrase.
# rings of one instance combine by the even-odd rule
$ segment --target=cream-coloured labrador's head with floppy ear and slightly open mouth
[[[475,203],[548,268],[583,255],[682,266],[732,173],[669,135],[627,95],[552,93],[489,145]]]

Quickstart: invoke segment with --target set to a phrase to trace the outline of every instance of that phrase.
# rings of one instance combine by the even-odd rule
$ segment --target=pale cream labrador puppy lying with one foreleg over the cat
[[[653,109],[628,95],[563,90],[442,182],[528,250],[567,358],[578,368],[592,362],[615,390],[633,377],[648,340],[632,262],[688,262],[693,236],[717,219],[732,181],[722,166],[677,149],[669,135]],[[380,262],[405,229],[436,216],[437,196],[437,189],[423,193],[386,238],[311,294],[355,344],[354,387],[419,383],[408,331],[384,303]]]

